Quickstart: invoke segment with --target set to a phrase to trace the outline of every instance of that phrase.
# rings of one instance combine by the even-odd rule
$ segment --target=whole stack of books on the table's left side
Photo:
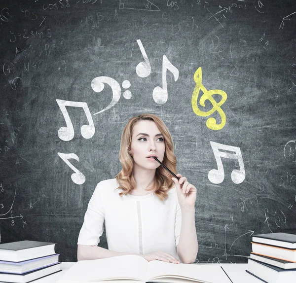
[[[55,243],[0,244],[0,282],[27,283],[61,271]]]

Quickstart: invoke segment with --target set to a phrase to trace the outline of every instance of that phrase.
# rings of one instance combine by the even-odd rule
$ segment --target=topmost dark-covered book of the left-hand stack
[[[0,260],[19,262],[54,254],[56,243],[19,241],[0,244]]]

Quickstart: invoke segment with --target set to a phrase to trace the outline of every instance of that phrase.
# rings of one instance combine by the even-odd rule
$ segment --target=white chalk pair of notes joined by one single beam
[[[82,125],[80,132],[84,139],[90,139],[95,134],[94,121],[86,102],[76,102],[56,99],[62,114],[65,118],[67,127],[61,127],[58,131],[58,136],[62,141],[71,141],[74,138],[74,128],[66,106],[83,108],[89,125]]]

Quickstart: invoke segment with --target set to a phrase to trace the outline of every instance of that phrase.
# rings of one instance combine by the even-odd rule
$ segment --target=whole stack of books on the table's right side
[[[246,271],[266,283],[296,282],[296,235],[254,235]]]

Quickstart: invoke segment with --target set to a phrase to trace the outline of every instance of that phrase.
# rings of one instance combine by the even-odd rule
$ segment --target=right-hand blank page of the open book
[[[174,278],[175,277],[175,278]],[[162,280],[161,278],[166,278]],[[187,280],[210,283],[229,283],[229,279],[222,271],[219,265],[204,265],[204,264],[174,264],[159,260],[148,262],[148,272],[146,281],[158,282],[177,282],[176,278]]]

